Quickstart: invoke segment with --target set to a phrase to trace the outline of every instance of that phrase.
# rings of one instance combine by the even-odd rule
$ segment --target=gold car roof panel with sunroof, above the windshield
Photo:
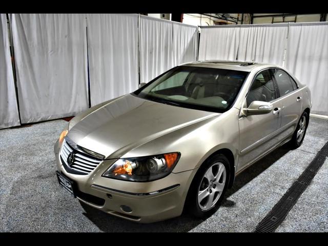
[[[180,66],[190,67],[207,67],[207,68],[221,68],[238,71],[250,72],[254,68],[267,68],[267,67],[279,67],[273,64],[254,63],[253,61],[238,61],[238,60],[200,60],[192,61],[191,63],[181,64]]]

